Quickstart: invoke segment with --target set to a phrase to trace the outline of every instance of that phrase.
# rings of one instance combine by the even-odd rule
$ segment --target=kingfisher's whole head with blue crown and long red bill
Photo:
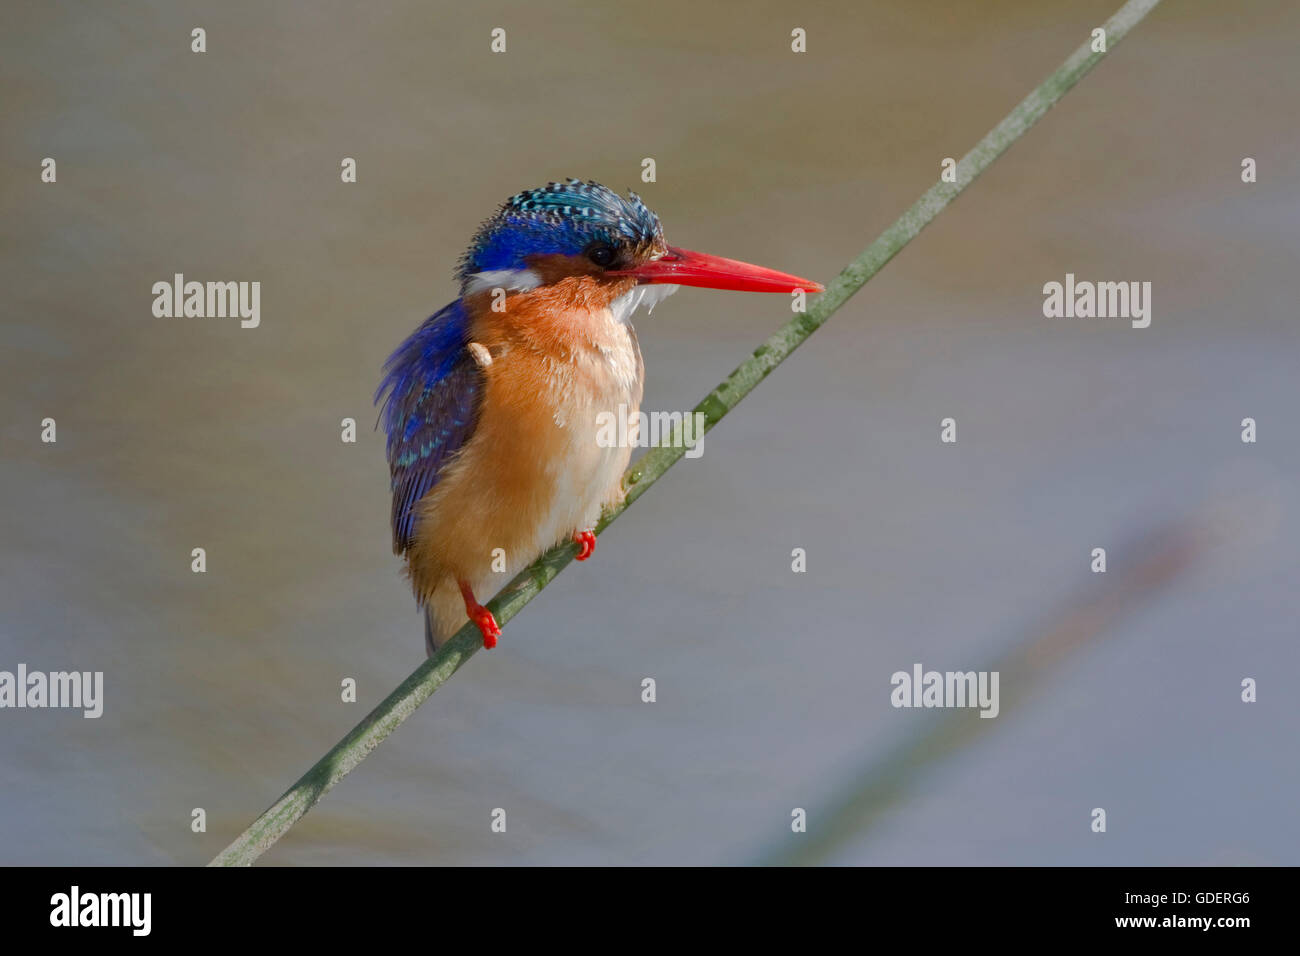
[[[757,293],[822,291],[798,276],[692,252],[663,239],[636,193],[568,179],[516,193],[482,224],[460,261],[462,295],[521,291],[589,277],[610,300],[654,304],[679,285]],[[625,317],[625,316],[624,316]]]

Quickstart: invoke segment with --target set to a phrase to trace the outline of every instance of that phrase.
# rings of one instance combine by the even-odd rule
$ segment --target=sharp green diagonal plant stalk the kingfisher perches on
[[[1105,22],[1108,51],[1115,44],[1160,0],[1128,0],[1109,21]],[[734,372],[727,376],[718,388],[710,392],[696,406],[694,411],[705,416],[705,431],[716,425],[723,416],[745,398],[754,386],[766,378],[774,368],[781,364],[790,352],[801,346],[809,336],[816,332],[836,310],[857,293],[867,281],[884,268],[904,246],[916,238],[942,209],[953,202],[975,178],[992,165],[993,160],[1019,139],[1050,109],[1057,100],[1078,83],[1105,53],[1092,51],[1091,39],[1074,51],[1066,61],[1028,96],[1020,100],[1006,118],[975,144],[957,164],[956,182],[936,182],[924,195],[911,204],[902,216],[885,229],[875,242],[849,263],[831,281],[826,293],[814,298],[806,312],[796,315],[789,323],[776,330],[754,354],[745,359]],[[607,511],[597,525],[597,533],[604,531],[632,502],[645,494],[650,485],[668,471],[685,454],[679,429],[667,445],[650,449],[623,476],[627,496],[621,505]],[[498,623],[506,624],[519,611],[541,593],[542,588],[555,580],[564,566],[573,559],[575,549],[564,544],[551,549],[533,564],[520,571],[497,597],[488,602]],[[421,663],[398,688],[374,708],[347,736],[330,749],[320,761],[272,804],[247,830],[218,853],[209,866],[247,866],[289,832],[316,803],[343,777],[352,771],[385,737],[406,721],[415,709],[428,700],[460,666],[482,645],[478,630],[465,624],[433,657]]]

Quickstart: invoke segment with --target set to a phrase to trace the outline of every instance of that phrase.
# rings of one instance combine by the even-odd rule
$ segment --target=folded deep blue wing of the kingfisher
[[[384,402],[396,554],[411,546],[416,502],[474,433],[482,372],[465,347],[468,326],[460,299],[429,316],[389,356],[374,393]]]

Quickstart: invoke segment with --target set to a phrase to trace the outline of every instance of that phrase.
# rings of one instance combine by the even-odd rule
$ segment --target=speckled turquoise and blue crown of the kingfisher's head
[[[627,198],[595,181],[567,179],[516,193],[474,234],[456,278],[520,271],[533,256],[578,256],[601,250],[662,246],[663,230],[641,196]]]

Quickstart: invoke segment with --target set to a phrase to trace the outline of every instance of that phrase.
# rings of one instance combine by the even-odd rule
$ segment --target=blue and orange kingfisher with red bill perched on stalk
[[[621,498],[632,454],[602,447],[598,416],[634,421],[641,405],[638,306],[653,308],[679,285],[822,290],[668,246],[634,193],[624,199],[578,179],[506,200],[456,278],[460,298],[398,346],[374,397],[387,433],[393,550],[406,557],[430,654],[465,615],[495,646],[500,628],[480,596],[566,538],[578,561],[594,550],[593,528]]]

